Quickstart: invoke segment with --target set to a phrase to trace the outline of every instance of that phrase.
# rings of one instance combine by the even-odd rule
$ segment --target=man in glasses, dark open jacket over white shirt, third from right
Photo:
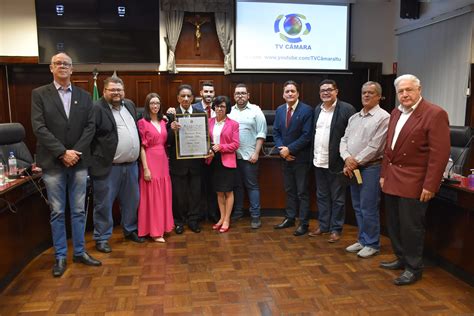
[[[312,160],[315,166],[319,227],[310,236],[330,233],[328,242],[341,238],[345,217],[346,180],[342,174],[344,160],[339,154],[341,138],[355,109],[337,98],[334,80],[319,84],[322,103],[314,109]]]

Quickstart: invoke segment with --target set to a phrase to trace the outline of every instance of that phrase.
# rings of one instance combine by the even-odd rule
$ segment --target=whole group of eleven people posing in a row
[[[84,247],[88,175],[93,187],[96,249],[112,251],[112,207],[118,200],[126,239],[146,237],[165,242],[173,229],[184,226],[199,233],[200,220],[215,223],[226,233],[231,220],[243,217],[244,188],[249,200],[250,226],[261,227],[259,157],[267,123],[259,106],[250,103],[245,84],[234,89],[234,105],[215,96],[214,86],[178,87],[176,108],[163,113],[161,98],[149,93],[144,113],[125,98],[123,81],[105,80],[103,97],[71,84],[72,60],[65,53],[52,57],[53,83],[32,92],[32,125],[37,137],[37,162],[51,208],[56,261],[53,275],[67,267],[66,200],[71,210],[73,261],[99,266]],[[284,220],[275,229],[296,225],[295,236],[309,231],[309,176],[314,170],[319,226],[309,236],[328,235],[338,242],[344,224],[345,194],[350,186],[359,233],[346,248],[368,258],[380,249],[379,203],[385,193],[387,225],[396,260],[386,269],[403,269],[397,285],[421,278],[424,215],[441,182],[449,158],[449,123],[444,110],[421,97],[413,75],[395,80],[400,105],[391,114],[379,102],[382,88],[362,86],[360,112],[338,99],[337,83],[319,85],[321,103],[315,108],[299,100],[294,81],[283,85],[285,103],[275,112],[273,138],[282,159],[286,192]],[[211,146],[204,158],[178,159],[175,134],[182,125],[176,116],[201,113],[209,124]],[[219,211],[219,213],[218,213]]]

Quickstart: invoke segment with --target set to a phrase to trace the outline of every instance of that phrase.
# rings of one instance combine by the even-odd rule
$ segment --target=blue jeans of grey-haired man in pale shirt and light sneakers
[[[361,245],[380,249],[380,165],[361,167],[362,184],[351,184],[352,207]]]

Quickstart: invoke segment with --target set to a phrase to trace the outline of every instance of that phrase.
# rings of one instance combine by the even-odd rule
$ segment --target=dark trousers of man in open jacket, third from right
[[[322,232],[341,233],[346,210],[344,175],[326,168],[315,168],[319,228]]]

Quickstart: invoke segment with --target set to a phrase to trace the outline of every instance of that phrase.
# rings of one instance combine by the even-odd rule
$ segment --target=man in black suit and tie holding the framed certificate
[[[173,117],[174,114],[204,113],[197,106],[191,106],[193,90],[190,85],[182,84],[178,87],[178,103],[175,108],[169,108],[170,125],[168,132],[170,174],[173,189],[173,217],[175,232],[182,234],[184,224],[195,233],[201,232],[199,227],[199,206],[201,204],[201,175],[203,159],[176,159],[175,133],[181,127]]]

